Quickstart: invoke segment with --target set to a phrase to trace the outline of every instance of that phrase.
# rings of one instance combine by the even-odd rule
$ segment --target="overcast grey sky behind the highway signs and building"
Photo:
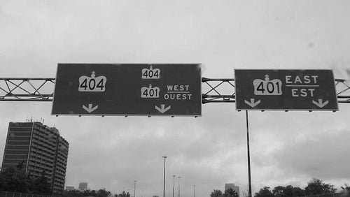
[[[350,79],[350,1],[3,1],[0,77],[54,78],[57,63],[201,63],[206,78],[236,68],[332,69]],[[203,88],[204,85],[203,85]],[[53,89],[52,89],[53,91]],[[349,95],[349,94],[348,94]],[[54,117],[50,102],[0,103],[8,122],[45,119],[69,141],[66,186],[166,196],[248,188],[245,112],[207,103],[202,117]],[[350,105],[338,112],[249,112],[253,192],[350,183]],[[177,189],[177,183],[176,183]],[[177,191],[176,194],[177,195]]]

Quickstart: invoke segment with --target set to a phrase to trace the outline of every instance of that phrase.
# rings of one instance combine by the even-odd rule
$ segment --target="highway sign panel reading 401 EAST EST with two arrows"
[[[330,70],[235,70],[236,110],[338,110]]]

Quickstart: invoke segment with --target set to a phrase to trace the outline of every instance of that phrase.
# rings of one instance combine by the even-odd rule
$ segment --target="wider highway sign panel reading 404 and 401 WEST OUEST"
[[[52,115],[202,115],[200,64],[58,64]]]

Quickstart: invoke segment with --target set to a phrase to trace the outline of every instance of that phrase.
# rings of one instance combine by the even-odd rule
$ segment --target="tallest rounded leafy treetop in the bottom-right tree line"
[[[323,180],[312,179],[308,182],[307,187],[305,187],[306,195],[317,195],[317,194],[332,194],[335,193],[337,189],[334,188],[332,184],[326,184]]]

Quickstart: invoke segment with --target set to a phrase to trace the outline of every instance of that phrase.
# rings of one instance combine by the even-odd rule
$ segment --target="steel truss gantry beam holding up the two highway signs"
[[[235,103],[235,79],[202,78],[202,103]],[[338,103],[350,103],[350,80],[335,80]],[[0,101],[52,101],[55,78],[0,78]]]

